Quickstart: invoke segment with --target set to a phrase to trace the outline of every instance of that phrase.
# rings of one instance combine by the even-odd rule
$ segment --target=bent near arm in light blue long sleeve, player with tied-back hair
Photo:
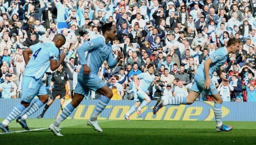
[[[84,42],[80,47],[77,48],[77,53],[79,57],[80,64],[87,64],[85,60],[85,51],[93,50],[95,48],[98,48],[100,45],[104,44],[104,38],[103,37],[97,37],[90,41]]]

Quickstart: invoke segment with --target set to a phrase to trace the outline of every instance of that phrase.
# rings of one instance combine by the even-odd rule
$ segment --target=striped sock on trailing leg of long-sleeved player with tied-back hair
[[[68,103],[65,108],[62,110],[62,112],[60,113],[60,115],[57,117],[56,121],[53,122],[53,125],[58,127],[59,124],[66,118],[68,117],[72,111],[74,110],[74,107],[72,106],[71,103]]]

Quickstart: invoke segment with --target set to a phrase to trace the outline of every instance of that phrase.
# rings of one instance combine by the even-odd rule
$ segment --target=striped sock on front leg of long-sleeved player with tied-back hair
[[[107,96],[102,95],[101,98],[98,100],[98,104],[92,113],[90,120],[95,121],[98,117],[98,115],[103,111],[103,109],[106,107],[107,103],[109,102],[110,98]]]

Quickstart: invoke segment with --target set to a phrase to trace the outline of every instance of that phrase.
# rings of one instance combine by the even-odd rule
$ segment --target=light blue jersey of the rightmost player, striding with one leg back
[[[208,58],[212,60],[212,63],[209,67],[209,77],[212,78],[212,74],[214,71],[218,70],[221,65],[223,65],[226,62],[228,52],[225,47],[218,48],[215,50],[211,55],[209,55]],[[196,72],[196,75],[201,76],[205,78],[204,74],[204,62],[203,61]]]

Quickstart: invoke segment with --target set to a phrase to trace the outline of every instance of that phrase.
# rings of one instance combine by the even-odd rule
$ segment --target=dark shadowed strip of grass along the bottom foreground
[[[216,132],[212,129],[170,128],[62,128],[64,136],[47,129],[0,135],[0,144],[254,144],[253,129]],[[4,143],[2,143],[4,142]]]

